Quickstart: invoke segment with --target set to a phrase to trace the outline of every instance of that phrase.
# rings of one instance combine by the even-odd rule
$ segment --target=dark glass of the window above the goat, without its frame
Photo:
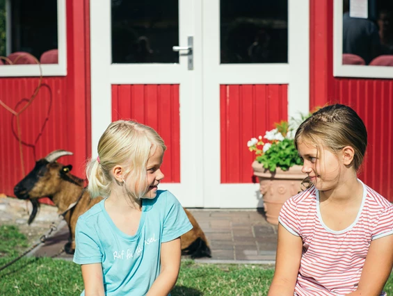
[[[40,0],[40,5],[31,0],[0,0],[1,56],[18,64],[35,63],[33,57],[41,63],[58,63],[57,49],[56,0]],[[24,58],[15,58],[18,55]]]

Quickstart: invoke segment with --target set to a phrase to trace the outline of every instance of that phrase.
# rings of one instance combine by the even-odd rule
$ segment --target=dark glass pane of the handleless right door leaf
[[[288,0],[220,0],[221,63],[288,63]]]

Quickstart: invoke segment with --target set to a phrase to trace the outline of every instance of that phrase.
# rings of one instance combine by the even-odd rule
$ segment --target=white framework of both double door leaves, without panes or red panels
[[[173,7],[178,9],[178,42],[168,45],[188,47],[192,39],[192,58],[180,50],[176,63],[112,63],[111,6],[127,1],[135,0],[90,1],[93,156],[111,122],[111,85],[179,84],[181,181],[161,188],[187,207],[260,206],[257,184],[220,182],[220,85],[289,84],[289,116],[307,111],[308,1],[288,3],[289,63],[221,64],[220,0],[179,0]],[[161,8],[165,2],[174,5],[162,0]]]

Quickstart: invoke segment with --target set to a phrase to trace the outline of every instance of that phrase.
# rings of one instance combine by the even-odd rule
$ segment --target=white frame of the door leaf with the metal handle
[[[91,44],[91,115],[92,155],[97,156],[97,143],[111,122],[112,84],[179,84],[180,104],[180,180],[162,183],[161,189],[173,192],[183,206],[201,207],[202,186],[202,48],[201,3],[179,0],[179,43],[186,46],[194,38],[193,70],[187,67],[187,56],[179,64],[111,64],[111,0],[90,1]],[[196,86],[195,86],[196,85]],[[165,161],[165,159],[164,159]]]

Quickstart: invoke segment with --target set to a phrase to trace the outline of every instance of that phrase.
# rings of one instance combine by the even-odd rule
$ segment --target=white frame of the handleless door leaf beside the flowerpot
[[[262,206],[259,184],[220,183],[220,84],[289,84],[289,117],[308,113],[309,0],[288,0],[289,63],[285,64],[220,65],[220,0],[203,3],[204,206],[256,208]]]

